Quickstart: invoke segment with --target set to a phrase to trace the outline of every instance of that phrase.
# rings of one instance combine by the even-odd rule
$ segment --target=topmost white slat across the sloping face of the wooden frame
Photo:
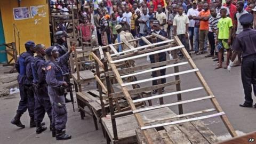
[[[109,61],[109,62],[110,63],[117,63],[117,62],[122,62],[122,61],[126,61],[126,60],[138,59],[138,58],[146,57],[148,55],[153,55],[153,54],[157,54],[157,53],[161,53],[161,52],[167,52],[167,51],[173,51],[173,50],[181,49],[182,47],[184,47],[184,46],[180,45],[180,46],[175,46],[175,47],[169,47],[168,49],[163,49],[163,50],[153,51],[153,52],[149,52],[149,53],[134,55],[132,57],[128,57],[128,58],[124,58],[124,59],[118,59],[118,60]]]

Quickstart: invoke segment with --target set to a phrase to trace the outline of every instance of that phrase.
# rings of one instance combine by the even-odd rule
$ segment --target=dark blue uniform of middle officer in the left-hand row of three
[[[33,70],[33,83],[35,91],[35,122],[42,122],[45,112],[52,121],[52,106],[45,81],[45,59],[37,56],[35,58]]]

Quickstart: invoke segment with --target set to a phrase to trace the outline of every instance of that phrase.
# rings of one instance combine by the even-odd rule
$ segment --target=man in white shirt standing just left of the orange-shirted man
[[[191,9],[188,10],[187,15],[189,19],[188,23],[188,34],[189,34],[189,40],[191,45],[191,50],[194,50],[194,27],[195,27],[195,20],[193,20],[193,15],[196,15],[198,13],[197,11],[197,1],[193,1],[193,6]]]

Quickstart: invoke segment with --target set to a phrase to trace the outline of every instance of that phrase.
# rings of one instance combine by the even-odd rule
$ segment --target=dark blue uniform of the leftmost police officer
[[[20,88],[20,102],[17,114],[22,115],[28,109],[31,119],[34,120],[35,98],[32,87],[33,74],[31,70],[31,63],[34,62],[34,55],[32,52],[24,52],[20,55],[19,60],[15,63],[17,69],[18,83]]]

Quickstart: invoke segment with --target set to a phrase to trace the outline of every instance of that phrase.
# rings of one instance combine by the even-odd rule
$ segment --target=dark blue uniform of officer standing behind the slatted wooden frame
[[[156,33],[156,31],[154,30],[151,33]],[[151,33],[149,35],[151,35]],[[167,33],[164,30],[160,30],[159,35],[167,37]],[[156,38],[156,43],[162,42],[162,41],[163,41],[162,39]],[[165,45],[165,44],[162,44],[162,45]],[[162,46],[162,45],[157,45],[157,46]],[[149,58],[150,58],[150,63],[166,61],[166,53],[165,52],[158,53],[158,61],[155,60],[155,56],[154,55],[149,55]],[[153,68],[156,68],[156,67],[153,67]],[[160,75],[164,76],[165,75],[165,71],[166,71],[166,69],[161,69],[160,70]],[[153,77],[157,76],[156,75],[156,71],[152,72],[152,76]],[[162,84],[163,84],[163,83],[166,82],[166,79],[162,78],[161,81],[162,81]],[[157,85],[157,80],[154,80],[152,83],[153,83],[153,85]]]

